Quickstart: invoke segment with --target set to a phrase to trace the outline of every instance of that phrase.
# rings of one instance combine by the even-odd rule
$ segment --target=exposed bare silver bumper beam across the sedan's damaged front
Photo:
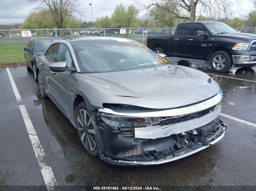
[[[215,109],[216,108],[216,109]],[[204,126],[214,119],[216,119],[221,113],[221,105],[216,106],[214,111],[208,113],[200,118],[183,121],[166,126],[151,126],[151,127],[140,127],[134,129],[135,138],[162,138],[172,134],[178,134],[198,127]]]

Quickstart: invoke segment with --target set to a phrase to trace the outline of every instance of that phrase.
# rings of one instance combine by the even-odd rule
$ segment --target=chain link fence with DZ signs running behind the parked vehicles
[[[234,28],[241,33],[256,34],[256,28]],[[96,29],[35,29],[32,37],[22,37],[22,30],[0,30],[0,63],[23,62],[24,48],[32,37],[119,37],[146,45],[148,35],[172,35],[175,28],[96,28]]]

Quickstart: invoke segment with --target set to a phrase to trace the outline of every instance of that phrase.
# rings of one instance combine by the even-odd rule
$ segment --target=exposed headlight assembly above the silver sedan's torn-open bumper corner
[[[113,127],[149,127],[160,123],[161,117],[124,117],[110,116],[107,113],[101,113],[101,119]]]

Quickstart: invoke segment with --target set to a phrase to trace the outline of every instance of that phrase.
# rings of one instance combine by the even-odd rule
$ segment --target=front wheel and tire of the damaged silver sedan
[[[78,105],[76,113],[75,120],[81,144],[88,154],[93,157],[98,157],[98,138],[85,102],[81,102]]]

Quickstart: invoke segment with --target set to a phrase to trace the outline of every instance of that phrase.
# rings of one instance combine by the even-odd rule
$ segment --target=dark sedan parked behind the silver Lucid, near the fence
[[[36,81],[37,81],[37,76],[35,75],[36,59],[45,53],[45,50],[48,48],[48,46],[51,43],[61,39],[64,39],[64,38],[51,38],[51,37],[31,38],[28,42],[28,46],[24,48],[26,68],[28,71],[32,70],[34,72]]]

